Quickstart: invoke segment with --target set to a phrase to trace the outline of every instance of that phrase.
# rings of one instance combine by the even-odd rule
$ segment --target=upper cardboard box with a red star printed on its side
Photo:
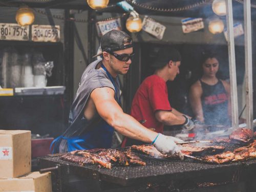
[[[0,130],[0,178],[16,178],[31,172],[31,132]]]

